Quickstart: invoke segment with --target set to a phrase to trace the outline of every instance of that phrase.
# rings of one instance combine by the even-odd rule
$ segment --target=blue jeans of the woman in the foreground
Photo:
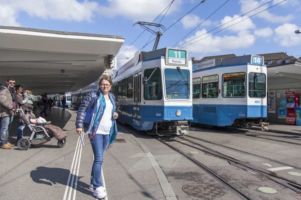
[[[90,134],[88,134],[90,137]],[[101,183],[101,164],[103,161],[103,154],[106,150],[109,143],[108,134],[95,134],[94,138],[91,141],[93,153],[94,153],[94,162],[91,171],[91,184],[93,184],[94,189],[102,186]]]

